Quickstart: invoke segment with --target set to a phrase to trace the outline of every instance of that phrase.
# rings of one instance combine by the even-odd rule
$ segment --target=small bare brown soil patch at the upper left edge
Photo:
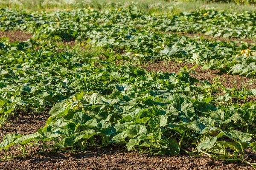
[[[0,31],[0,38],[9,38],[9,42],[23,42],[30,39],[33,35],[23,31]]]

